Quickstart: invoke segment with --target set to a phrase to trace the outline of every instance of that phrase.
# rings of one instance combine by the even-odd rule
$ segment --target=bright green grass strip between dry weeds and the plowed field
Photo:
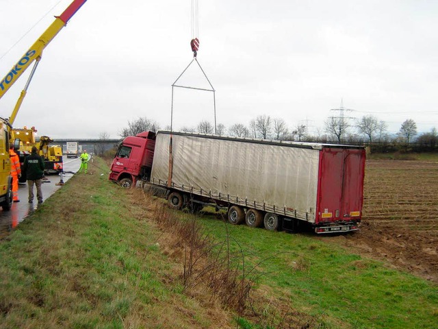
[[[224,223],[204,215],[205,229],[224,239]],[[248,269],[259,261],[258,284],[286,296],[291,306],[324,317],[327,328],[435,328],[436,284],[395,271],[355,250],[333,247],[312,234],[288,234],[228,226],[232,248],[246,254]]]

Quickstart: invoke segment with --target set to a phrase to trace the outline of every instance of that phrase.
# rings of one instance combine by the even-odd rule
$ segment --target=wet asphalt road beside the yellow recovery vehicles
[[[65,173],[62,175],[63,181],[66,182],[73,177],[73,173],[76,173],[80,166],[81,161],[79,158],[68,159],[64,156]],[[88,166],[90,166],[90,164],[88,164]],[[73,173],[68,173],[69,171]],[[44,180],[42,184],[42,197],[44,200],[50,197],[59,188],[62,188],[62,186],[56,185],[56,183],[60,182],[60,175],[47,175],[46,178],[47,180]],[[21,221],[24,221],[31,212],[38,208],[35,187],[34,195],[34,202],[29,204],[27,197],[27,183],[20,183],[18,184],[18,197],[20,198],[20,202],[14,202],[9,211],[3,211],[0,207],[0,239],[10,234],[10,232],[16,228]]]

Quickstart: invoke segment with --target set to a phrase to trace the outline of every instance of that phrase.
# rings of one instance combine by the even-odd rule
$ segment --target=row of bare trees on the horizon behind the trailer
[[[128,121],[127,127],[120,131],[120,137],[135,136],[144,131],[156,132],[161,129],[159,123],[147,117]],[[306,125],[298,124],[288,127],[284,119],[272,118],[263,114],[251,119],[248,125],[234,123],[229,127],[219,123],[214,127],[209,121],[200,121],[194,127],[181,127],[180,132],[200,134],[216,134],[218,136],[235,136],[248,138],[274,139],[277,141],[300,141],[317,143],[354,143],[354,144],[394,144],[394,145],[423,145],[435,149],[438,145],[438,133],[434,127],[430,132],[418,136],[417,124],[412,119],[405,120],[398,133],[390,135],[385,121],[379,121],[372,115],[365,115],[350,123],[344,117],[329,117],[324,121],[324,128],[316,134],[309,134]],[[170,126],[164,127],[170,130]]]

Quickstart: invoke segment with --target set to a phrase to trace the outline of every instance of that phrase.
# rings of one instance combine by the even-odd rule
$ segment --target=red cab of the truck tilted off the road
[[[155,132],[125,138],[111,164],[110,180],[123,187],[136,186],[138,179],[149,180],[154,149]]]

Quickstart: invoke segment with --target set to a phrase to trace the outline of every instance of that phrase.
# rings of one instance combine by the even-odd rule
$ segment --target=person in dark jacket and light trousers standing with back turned
[[[26,174],[27,186],[29,187],[29,204],[34,202],[34,184],[36,186],[36,198],[38,204],[42,204],[42,176],[44,175],[44,160],[38,156],[38,149],[32,147],[30,156],[25,158],[23,172]]]

